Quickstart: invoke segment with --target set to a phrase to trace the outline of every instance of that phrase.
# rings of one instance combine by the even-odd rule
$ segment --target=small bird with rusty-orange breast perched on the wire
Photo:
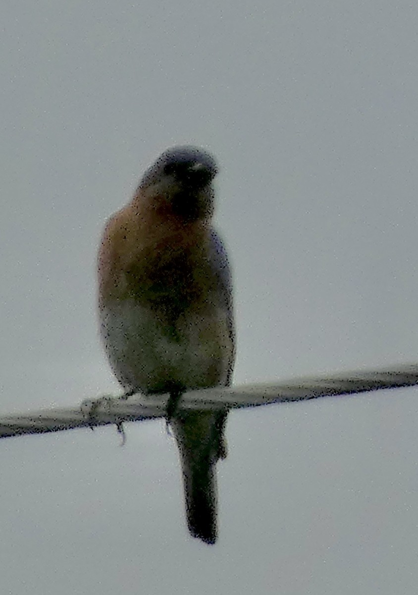
[[[232,277],[212,219],[215,158],[174,146],[144,172],[105,226],[98,256],[100,336],[125,395],[169,394],[191,536],[217,538],[216,463],[228,411],[181,411],[186,390],[230,386]]]

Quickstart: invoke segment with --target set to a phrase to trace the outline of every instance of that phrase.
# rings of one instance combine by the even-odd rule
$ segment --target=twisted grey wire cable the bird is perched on
[[[236,409],[285,403],[372,390],[398,389],[418,384],[418,365],[385,370],[345,372],[328,376],[294,378],[282,383],[191,390],[184,393],[179,409]],[[105,395],[85,400],[73,408],[51,408],[27,414],[0,416],[0,438],[43,434],[73,428],[97,427],[125,421],[165,417],[168,395],[134,394],[126,399]]]

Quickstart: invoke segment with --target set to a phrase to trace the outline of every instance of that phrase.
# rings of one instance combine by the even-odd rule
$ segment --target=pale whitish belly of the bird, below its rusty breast
[[[125,390],[166,392],[226,384],[232,359],[227,315],[210,306],[181,315],[175,334],[135,300],[102,308],[101,334],[112,369]]]

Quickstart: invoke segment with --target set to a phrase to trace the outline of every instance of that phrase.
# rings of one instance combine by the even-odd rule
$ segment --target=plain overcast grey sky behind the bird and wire
[[[105,218],[178,143],[217,156],[235,383],[414,362],[418,5],[0,9],[1,412],[117,384]],[[233,412],[220,537],[188,537],[162,422],[0,443],[4,594],[416,593],[414,389]]]

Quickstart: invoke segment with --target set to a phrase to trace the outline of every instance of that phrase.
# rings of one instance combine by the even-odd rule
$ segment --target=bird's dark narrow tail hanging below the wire
[[[217,537],[216,462],[225,456],[223,412],[182,412],[172,421],[183,470],[191,536],[213,544]]]

